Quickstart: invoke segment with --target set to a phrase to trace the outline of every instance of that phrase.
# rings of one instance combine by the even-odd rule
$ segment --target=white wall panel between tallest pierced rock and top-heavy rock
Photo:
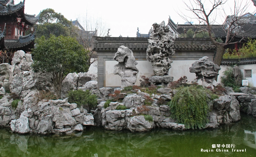
[[[172,68],[169,69],[169,75],[173,77],[173,81],[177,81],[180,77],[187,76],[189,83],[196,79],[195,73],[189,72],[189,67],[197,60],[172,60]]]

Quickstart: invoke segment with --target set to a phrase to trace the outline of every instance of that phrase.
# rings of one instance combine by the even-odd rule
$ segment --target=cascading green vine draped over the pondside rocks
[[[207,112],[209,99],[202,86],[180,87],[169,102],[171,116],[187,129],[204,128],[208,123]]]

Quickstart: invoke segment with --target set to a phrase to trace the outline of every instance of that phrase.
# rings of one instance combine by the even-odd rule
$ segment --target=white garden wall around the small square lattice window
[[[220,65],[221,70],[219,71],[219,76],[218,76],[218,83],[220,83],[221,79],[220,77],[223,76],[223,71],[227,69],[227,65]],[[231,67],[231,66],[229,66]],[[247,79],[249,82],[250,87],[256,87],[256,64],[244,64],[244,65],[238,65],[238,67],[241,70],[242,73],[242,78]],[[252,77],[251,78],[245,78],[244,77],[244,70],[252,70]]]

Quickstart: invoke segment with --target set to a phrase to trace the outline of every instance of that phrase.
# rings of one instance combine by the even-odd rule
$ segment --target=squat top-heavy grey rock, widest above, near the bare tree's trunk
[[[207,56],[200,58],[189,67],[189,72],[196,73],[194,82],[201,84],[203,87],[213,87],[214,84],[217,84],[214,79],[219,75],[219,70],[220,67],[209,61]],[[199,82],[199,79],[201,79],[202,82]]]

